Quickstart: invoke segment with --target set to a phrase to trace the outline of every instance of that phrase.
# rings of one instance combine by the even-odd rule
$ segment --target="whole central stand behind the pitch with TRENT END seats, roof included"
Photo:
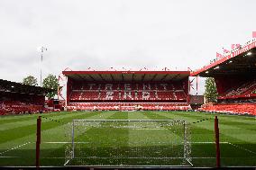
[[[188,110],[188,71],[63,71],[67,110]]]

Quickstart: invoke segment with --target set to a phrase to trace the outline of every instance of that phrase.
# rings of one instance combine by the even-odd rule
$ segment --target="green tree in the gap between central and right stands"
[[[206,92],[205,92],[205,97],[207,102],[217,102],[217,88],[215,85],[215,78],[213,77],[208,77],[206,78]]]

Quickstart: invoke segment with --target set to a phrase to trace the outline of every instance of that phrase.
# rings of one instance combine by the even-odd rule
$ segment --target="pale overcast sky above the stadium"
[[[251,40],[255,6],[255,0],[0,0],[0,78],[40,80],[40,46],[48,48],[43,76],[66,67],[196,69],[216,51]]]

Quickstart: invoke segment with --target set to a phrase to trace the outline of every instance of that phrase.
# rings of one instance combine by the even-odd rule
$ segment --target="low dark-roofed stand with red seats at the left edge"
[[[45,94],[51,89],[0,79],[0,115],[47,112]]]

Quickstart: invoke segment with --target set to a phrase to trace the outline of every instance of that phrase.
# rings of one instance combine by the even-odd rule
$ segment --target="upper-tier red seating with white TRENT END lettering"
[[[165,101],[187,100],[178,84],[85,84],[71,87],[70,101]]]

